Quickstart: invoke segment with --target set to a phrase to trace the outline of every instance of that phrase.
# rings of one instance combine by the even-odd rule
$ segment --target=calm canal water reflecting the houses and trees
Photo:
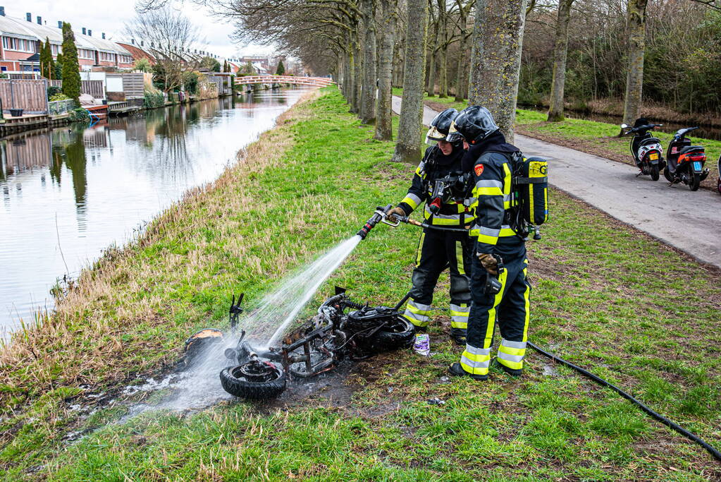
[[[50,290],[216,178],[307,89],[149,110],[0,139],[0,338]]]

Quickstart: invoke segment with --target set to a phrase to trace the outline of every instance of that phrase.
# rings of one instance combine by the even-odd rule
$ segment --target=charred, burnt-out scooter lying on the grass
[[[242,307],[231,301],[231,331],[237,333]],[[404,300],[403,300],[404,301]],[[399,304],[400,305],[400,304]],[[240,330],[235,348],[224,351],[234,366],[220,373],[226,392],[239,398],[275,398],[286,390],[288,374],[309,378],[334,368],[343,359],[363,359],[383,351],[410,346],[414,338],[411,323],[398,307],[370,307],[353,302],[345,289],[336,287],[317,315],[283,338],[280,349],[255,349]],[[352,310],[352,311],[347,311]],[[187,356],[199,353],[200,346],[217,343],[220,330],[201,330],[186,342]]]

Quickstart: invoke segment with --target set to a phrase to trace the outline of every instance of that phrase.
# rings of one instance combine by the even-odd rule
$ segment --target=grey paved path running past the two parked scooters
[[[400,97],[394,96],[394,112],[400,112],[400,105]],[[435,114],[424,106],[423,123],[428,125]],[[556,188],[721,268],[717,193],[704,189],[694,193],[686,185],[669,187],[663,175],[656,182],[648,176],[636,178],[638,170],[622,162],[518,134],[515,144],[526,155],[549,159],[549,182]]]

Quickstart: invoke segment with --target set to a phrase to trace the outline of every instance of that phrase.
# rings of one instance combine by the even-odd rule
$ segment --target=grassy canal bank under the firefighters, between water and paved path
[[[334,89],[293,107],[221,178],[143,239],[110,251],[58,315],[2,354],[7,480],[714,480],[721,466],[625,400],[532,353],[526,375],[446,377],[459,356],[439,312],[435,354],[358,362],[295,402],[222,403],[121,423],[99,393],[172,365],[185,337],[221,325],[231,292],[258,299],[283,273],[397,202],[411,165],[389,162]],[[721,444],[721,275],[562,193],[529,245],[530,336]],[[389,304],[410,287],[419,232],[378,227],[322,287]],[[443,277],[436,303],[448,303]],[[292,387],[291,387],[292,390]],[[439,398],[435,405],[428,400]],[[69,431],[87,431],[77,442]]]

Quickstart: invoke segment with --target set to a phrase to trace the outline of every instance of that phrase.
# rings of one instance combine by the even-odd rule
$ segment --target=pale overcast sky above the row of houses
[[[32,14],[35,22],[37,15],[43,17],[43,23],[48,27],[56,27],[58,20],[70,22],[73,30],[80,31],[82,27],[92,30],[93,37],[100,37],[105,32],[107,38],[112,40],[123,39],[125,22],[136,16],[135,0],[0,0],[5,6],[8,17],[25,19],[25,13]],[[233,58],[241,55],[265,55],[273,53],[273,48],[259,45],[234,45],[228,38],[233,32],[232,25],[211,17],[208,11],[190,1],[176,1],[176,8],[200,27],[201,37],[207,40],[208,52],[218,56]]]

